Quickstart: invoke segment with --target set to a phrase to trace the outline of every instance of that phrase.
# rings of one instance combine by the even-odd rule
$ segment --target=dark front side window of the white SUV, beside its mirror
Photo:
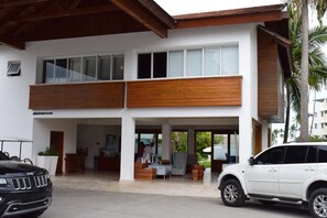
[[[284,146],[266,150],[255,159],[257,164],[281,164],[284,157]]]

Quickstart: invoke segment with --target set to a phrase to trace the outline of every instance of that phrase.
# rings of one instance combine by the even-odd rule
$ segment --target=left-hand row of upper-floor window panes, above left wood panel
[[[43,83],[122,80],[123,55],[97,55],[43,61]]]

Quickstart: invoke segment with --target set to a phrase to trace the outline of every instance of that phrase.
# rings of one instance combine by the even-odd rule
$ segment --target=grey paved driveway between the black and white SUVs
[[[90,184],[91,185],[91,184]],[[298,207],[266,207],[247,204],[242,208],[222,205],[220,198],[115,193],[87,189],[54,189],[53,205],[42,218],[308,218]]]

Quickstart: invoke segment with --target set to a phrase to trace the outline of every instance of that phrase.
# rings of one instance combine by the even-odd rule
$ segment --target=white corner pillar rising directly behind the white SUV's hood
[[[249,113],[240,115],[239,128],[239,163],[244,164],[253,154],[252,119]]]

